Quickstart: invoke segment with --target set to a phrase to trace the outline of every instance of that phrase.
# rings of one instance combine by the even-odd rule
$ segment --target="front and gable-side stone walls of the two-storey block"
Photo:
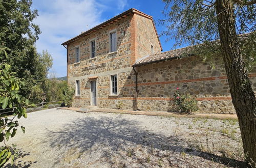
[[[136,15],[136,16],[135,16]],[[142,19],[143,18],[143,19]],[[136,24],[140,26],[135,29]],[[146,44],[141,42],[145,30],[152,32]],[[117,51],[110,52],[110,32],[117,34]],[[139,36],[136,36],[139,32]],[[91,59],[90,41],[96,41],[96,57]],[[138,39],[138,41],[136,41]],[[139,43],[139,44],[138,44]],[[146,46],[148,44],[148,46]],[[161,45],[158,40],[154,23],[151,17],[141,12],[134,12],[121,16],[111,24],[102,26],[83,38],[74,40],[67,44],[68,50],[68,83],[75,86],[75,81],[80,80],[80,96],[75,96],[73,106],[84,107],[91,105],[91,81],[97,83],[97,106],[101,108],[115,108],[119,100],[124,102],[127,109],[134,109],[135,97],[135,76],[132,65],[136,61],[136,52],[149,54],[151,44],[154,44],[154,52],[161,52]],[[139,46],[143,45],[143,49]],[[80,48],[80,62],[75,63],[75,47]],[[117,75],[118,94],[111,95],[110,75]],[[94,79],[91,77],[97,76]],[[132,87],[123,87],[133,85]],[[123,99],[125,98],[125,99]],[[129,100],[126,100],[128,98]]]

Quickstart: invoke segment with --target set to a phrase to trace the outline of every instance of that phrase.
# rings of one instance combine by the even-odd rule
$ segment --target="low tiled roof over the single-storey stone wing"
[[[152,55],[146,55],[145,57],[137,60],[133,67],[177,59],[178,57],[181,57],[184,53],[187,53],[189,48],[190,47],[184,47]]]

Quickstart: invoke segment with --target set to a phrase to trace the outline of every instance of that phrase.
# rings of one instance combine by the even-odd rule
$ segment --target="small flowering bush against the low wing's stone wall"
[[[180,113],[190,114],[198,109],[197,100],[189,94],[180,94],[179,88],[174,93],[174,103]]]

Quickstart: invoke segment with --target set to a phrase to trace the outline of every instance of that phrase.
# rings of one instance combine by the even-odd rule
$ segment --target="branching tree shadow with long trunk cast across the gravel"
[[[190,149],[187,146],[189,142],[175,135],[166,137],[162,134],[141,129],[137,121],[122,119],[119,117],[86,117],[74,122],[63,125],[60,131],[49,131],[48,141],[51,147],[59,148],[78,148],[80,152],[93,152],[94,145],[109,146],[108,150],[100,148],[103,156],[111,157],[112,153],[118,152],[118,149],[125,151],[125,145],[142,145],[166,150],[176,153],[185,152],[188,155],[195,155],[201,158],[215,161],[232,167],[243,167],[244,162],[231,158],[221,157],[197,150]],[[170,128],[171,129],[171,128]],[[122,144],[122,145],[120,145]],[[177,158],[178,159],[178,158]]]

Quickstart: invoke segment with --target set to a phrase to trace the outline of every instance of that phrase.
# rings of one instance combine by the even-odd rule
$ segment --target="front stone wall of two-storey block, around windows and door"
[[[68,82],[75,86],[75,80],[80,80],[80,96],[75,96],[73,106],[85,107],[91,105],[91,81],[90,77],[97,76],[97,106],[115,108],[120,97],[134,97],[134,87],[122,88],[125,83],[133,83],[134,77],[130,76],[133,71],[131,58],[134,55],[134,24],[133,15],[127,16],[103,27],[99,31],[86,36],[68,45]],[[116,30],[117,52],[109,52],[109,32]],[[96,58],[91,59],[90,41],[96,40]],[[80,47],[80,63],[75,64],[75,47]],[[110,75],[118,75],[118,95],[110,95]],[[130,77],[128,77],[130,76]],[[126,79],[128,78],[128,79]],[[131,93],[132,92],[134,93]],[[128,94],[126,94],[128,93]],[[133,102],[127,100],[124,108],[132,108]]]

